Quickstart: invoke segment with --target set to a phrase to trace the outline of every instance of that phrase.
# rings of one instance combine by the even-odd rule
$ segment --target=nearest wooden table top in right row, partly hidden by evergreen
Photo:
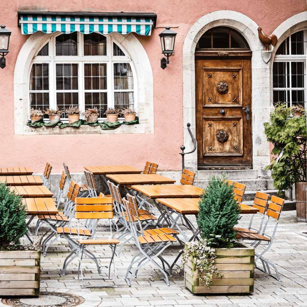
[[[157,202],[172,208],[182,214],[196,214],[199,212],[197,198],[157,198]],[[259,209],[240,204],[241,214],[253,214],[259,212]]]

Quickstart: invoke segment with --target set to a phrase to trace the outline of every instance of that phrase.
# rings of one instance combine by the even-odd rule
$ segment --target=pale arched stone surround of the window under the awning
[[[58,32],[56,32],[58,33]],[[28,121],[29,74],[33,56],[56,33],[45,34],[37,31],[30,35],[22,46],[14,70],[14,128],[15,134],[114,134],[114,133],[153,133],[153,73],[148,55],[133,33],[126,35],[113,32],[109,35],[128,52],[137,78],[139,125],[122,125],[116,130],[101,130],[86,126],[78,131],[66,127],[65,131],[34,129],[26,126]],[[142,59],[140,61],[139,59]],[[67,129],[68,128],[68,129]]]

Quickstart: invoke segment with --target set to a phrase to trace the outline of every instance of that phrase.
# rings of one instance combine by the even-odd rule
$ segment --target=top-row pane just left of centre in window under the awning
[[[78,35],[77,32],[71,34],[61,34],[56,37],[56,56],[77,56],[78,55]]]

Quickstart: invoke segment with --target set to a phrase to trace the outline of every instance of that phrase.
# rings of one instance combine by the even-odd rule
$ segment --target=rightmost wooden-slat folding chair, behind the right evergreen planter
[[[284,203],[285,203],[284,199],[279,198],[277,196],[272,196],[270,204],[269,204],[269,206],[266,210],[267,218],[266,218],[266,222],[264,224],[262,231],[261,232],[255,232],[255,231],[251,231],[250,229],[244,230],[244,228],[243,228],[241,230],[238,230],[238,233],[237,233],[238,239],[253,240],[254,242],[251,243],[252,247],[257,248],[259,245],[267,245],[267,247],[261,253],[258,254],[258,253],[255,252],[255,256],[256,256],[255,264],[256,264],[256,261],[258,259],[261,260],[263,270],[256,265],[255,265],[255,268],[266,273],[266,267],[267,267],[269,275],[274,277],[275,279],[277,279],[279,282],[281,282],[281,279],[279,278],[279,274],[278,274],[278,270],[277,270],[276,266],[272,262],[270,262],[269,260],[264,258],[263,255],[270,249],[270,247],[273,243],[273,239],[274,239],[275,232],[276,232],[277,225],[278,225],[278,220],[279,220],[279,217],[280,217],[280,213],[282,212],[282,207],[283,207]],[[274,226],[274,224],[272,225],[272,226],[274,226],[274,230],[273,230],[272,233],[267,231],[267,225],[268,225],[269,220],[271,220],[271,219],[275,220],[275,226]],[[273,268],[276,272],[276,276],[271,274],[269,265],[273,266]]]

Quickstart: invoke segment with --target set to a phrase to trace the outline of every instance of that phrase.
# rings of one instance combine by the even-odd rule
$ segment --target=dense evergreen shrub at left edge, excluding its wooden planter
[[[15,195],[0,182],[0,250],[7,251],[20,244],[19,239],[28,231],[22,196]]]

